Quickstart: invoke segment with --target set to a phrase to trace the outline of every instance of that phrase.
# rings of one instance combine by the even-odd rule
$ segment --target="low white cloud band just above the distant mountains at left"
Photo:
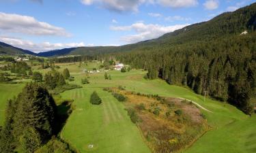
[[[68,43],[68,44],[51,44],[50,42],[42,42],[39,44],[33,43],[33,41],[20,39],[16,37],[5,37],[0,36],[0,41],[3,41],[6,44],[22,48],[24,50],[31,50],[33,52],[45,52],[49,50],[57,50],[61,48],[74,48],[85,46],[83,42],[80,43]],[[91,45],[91,44],[88,44]]]

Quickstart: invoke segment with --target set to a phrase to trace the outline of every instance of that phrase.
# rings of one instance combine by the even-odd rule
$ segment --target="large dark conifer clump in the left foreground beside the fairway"
[[[31,82],[8,102],[0,152],[34,152],[55,133],[56,105],[46,88]]]

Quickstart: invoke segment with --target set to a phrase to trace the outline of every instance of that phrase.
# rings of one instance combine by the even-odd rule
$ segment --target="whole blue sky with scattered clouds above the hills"
[[[34,52],[160,37],[254,0],[0,0],[0,41]]]

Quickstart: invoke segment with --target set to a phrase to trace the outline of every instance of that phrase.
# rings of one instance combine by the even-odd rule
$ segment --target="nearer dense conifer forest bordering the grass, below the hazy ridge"
[[[134,68],[148,70],[145,78],[162,78],[188,86],[198,94],[229,101],[253,113],[256,91],[256,33],[212,41],[193,41],[170,48],[113,54]]]

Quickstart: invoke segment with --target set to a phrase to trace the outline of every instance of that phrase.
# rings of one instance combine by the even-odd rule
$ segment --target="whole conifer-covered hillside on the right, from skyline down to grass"
[[[246,34],[241,34],[247,31]],[[256,99],[256,3],[148,41],[151,46],[111,54],[123,63],[229,101],[246,114]],[[147,50],[147,52],[145,52]]]

